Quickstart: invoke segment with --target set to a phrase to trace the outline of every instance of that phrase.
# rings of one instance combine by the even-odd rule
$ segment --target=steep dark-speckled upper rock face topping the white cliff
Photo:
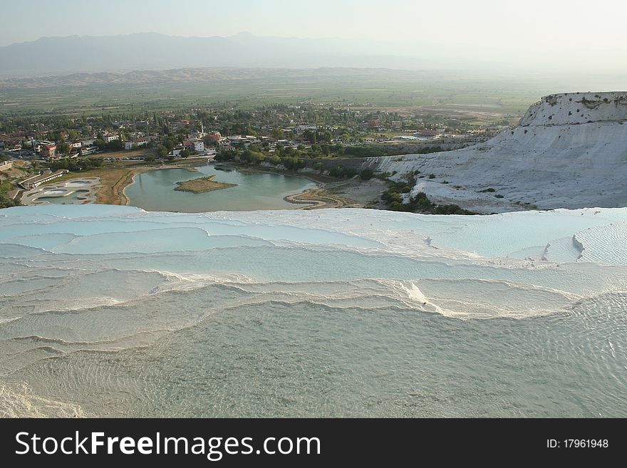
[[[563,93],[544,96],[520,120],[522,126],[627,120],[627,93]]]

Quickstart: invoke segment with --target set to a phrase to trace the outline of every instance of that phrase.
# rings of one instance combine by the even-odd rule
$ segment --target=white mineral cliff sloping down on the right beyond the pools
[[[627,93],[545,96],[517,127],[487,142],[428,155],[371,158],[364,167],[396,171],[397,180],[418,170],[411,194],[426,192],[434,202],[481,213],[532,205],[625,207]],[[425,177],[430,174],[435,178]],[[485,189],[494,192],[480,192]]]

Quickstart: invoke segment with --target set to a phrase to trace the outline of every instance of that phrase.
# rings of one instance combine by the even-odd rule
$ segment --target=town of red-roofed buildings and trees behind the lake
[[[487,140],[509,125],[502,117],[489,123],[473,120],[467,115],[306,103],[254,110],[224,105],[139,115],[4,118],[0,197],[4,206],[19,204],[25,190],[61,177],[60,171],[201,157],[353,177],[356,172],[342,163],[346,158],[457,149]],[[21,172],[11,174],[11,167]]]

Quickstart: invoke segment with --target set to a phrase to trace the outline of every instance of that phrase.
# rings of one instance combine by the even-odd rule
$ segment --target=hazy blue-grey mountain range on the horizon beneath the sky
[[[385,43],[334,38],[125,36],[44,37],[0,47],[0,76],[127,72],[199,67],[422,68]]]

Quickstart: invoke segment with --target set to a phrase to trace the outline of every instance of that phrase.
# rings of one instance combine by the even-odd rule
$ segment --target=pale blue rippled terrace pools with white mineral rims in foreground
[[[3,209],[0,412],[625,417],[626,222]]]

